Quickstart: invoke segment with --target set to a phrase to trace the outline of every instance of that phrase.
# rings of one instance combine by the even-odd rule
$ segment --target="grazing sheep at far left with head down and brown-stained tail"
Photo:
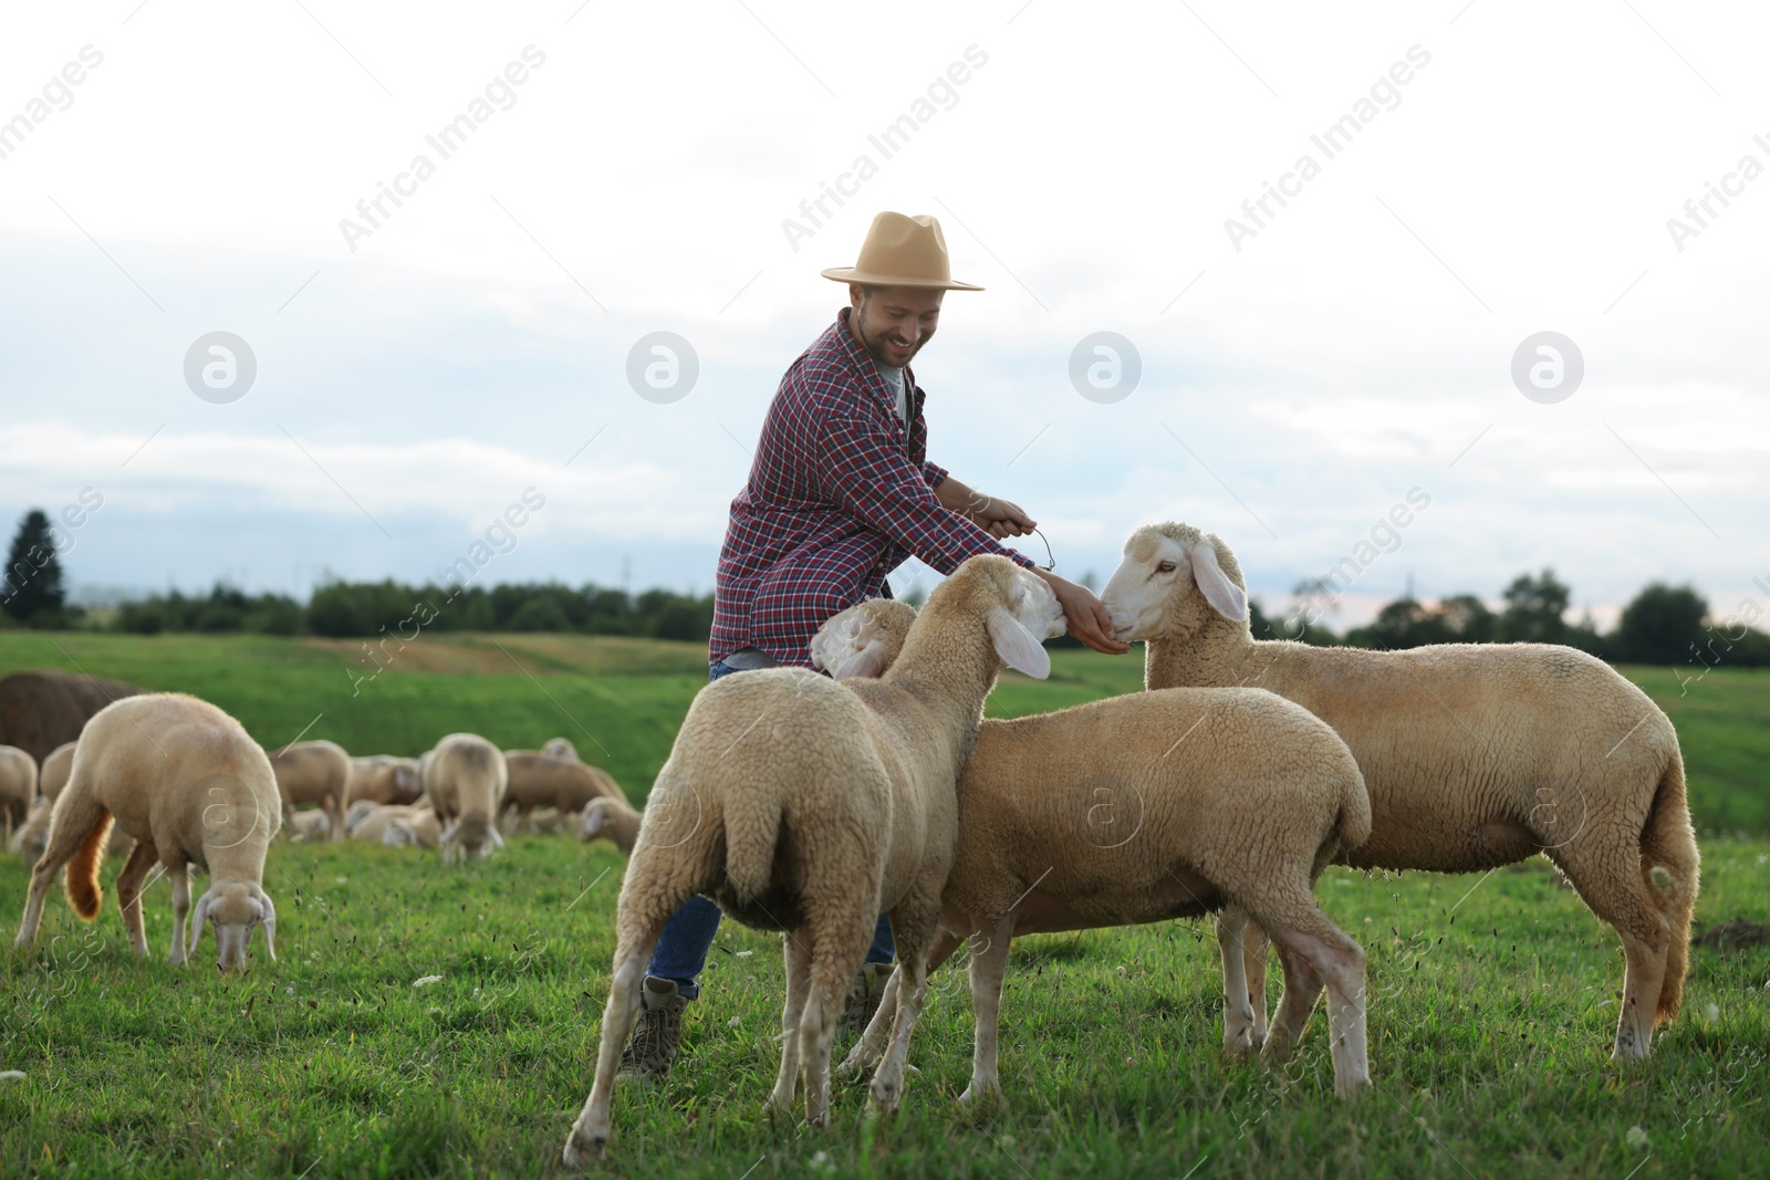
[[[62,865],[74,913],[85,922],[97,918],[99,849],[115,824],[136,840],[117,877],[117,902],[138,955],[147,955],[142,883],[158,858],[172,879],[172,964],[196,954],[211,920],[223,971],[246,968],[246,945],[258,923],[274,961],[276,906],[264,892],[264,854],[281,824],[278,803],[264,748],[207,701],[147,693],[99,709],[55,801],[50,844],[30,870],[16,945],[35,941],[44,895]],[[186,948],[189,865],[209,874],[209,888],[196,900]]]

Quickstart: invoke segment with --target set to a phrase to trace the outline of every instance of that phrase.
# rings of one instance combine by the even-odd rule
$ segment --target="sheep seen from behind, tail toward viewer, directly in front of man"
[[[1039,642],[1057,633],[1062,612],[1050,587],[986,554],[935,587],[903,656],[878,681],[844,686],[782,667],[727,676],[696,695],[627,865],[596,1081],[572,1125],[566,1164],[607,1145],[646,957],[696,893],[745,925],[786,932],[784,1046],[770,1109],[791,1107],[804,1061],[811,1125],[828,1125],[830,1042],[876,918],[890,915],[904,1001],[871,1104],[896,1107],[958,846],[959,768],[1002,663],[1048,676]]]

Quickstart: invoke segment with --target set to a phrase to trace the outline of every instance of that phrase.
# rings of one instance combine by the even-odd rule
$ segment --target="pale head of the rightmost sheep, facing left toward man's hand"
[[[1235,554],[1189,524],[1149,524],[1124,543],[1124,561],[1101,603],[1124,640],[1188,639],[1211,616],[1248,621],[1248,593]]]

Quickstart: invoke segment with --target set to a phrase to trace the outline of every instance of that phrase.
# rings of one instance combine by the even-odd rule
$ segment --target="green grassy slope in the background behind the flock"
[[[635,800],[706,683],[706,649],[595,635],[439,635],[386,649],[266,635],[0,633],[0,670],[57,667],[189,692],[276,748],[331,738],[354,754],[419,754],[471,729],[504,748],[565,734]],[[382,669],[377,674],[377,667]],[[1703,831],[1770,835],[1770,670],[1717,669],[1680,685],[1625,667],[1678,727]],[[1051,679],[1004,678],[993,716],[1021,716],[1142,688],[1138,653],[1051,653]]]

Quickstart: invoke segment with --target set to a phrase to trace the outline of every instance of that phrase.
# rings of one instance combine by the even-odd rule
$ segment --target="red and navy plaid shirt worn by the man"
[[[912,554],[940,573],[975,554],[1034,564],[935,499],[947,471],[927,462],[926,395],[906,368],[908,423],[897,419],[850,311],[793,361],[768,405],[719,550],[708,662],[761,647],[809,665],[823,621],[890,596],[885,575]]]

